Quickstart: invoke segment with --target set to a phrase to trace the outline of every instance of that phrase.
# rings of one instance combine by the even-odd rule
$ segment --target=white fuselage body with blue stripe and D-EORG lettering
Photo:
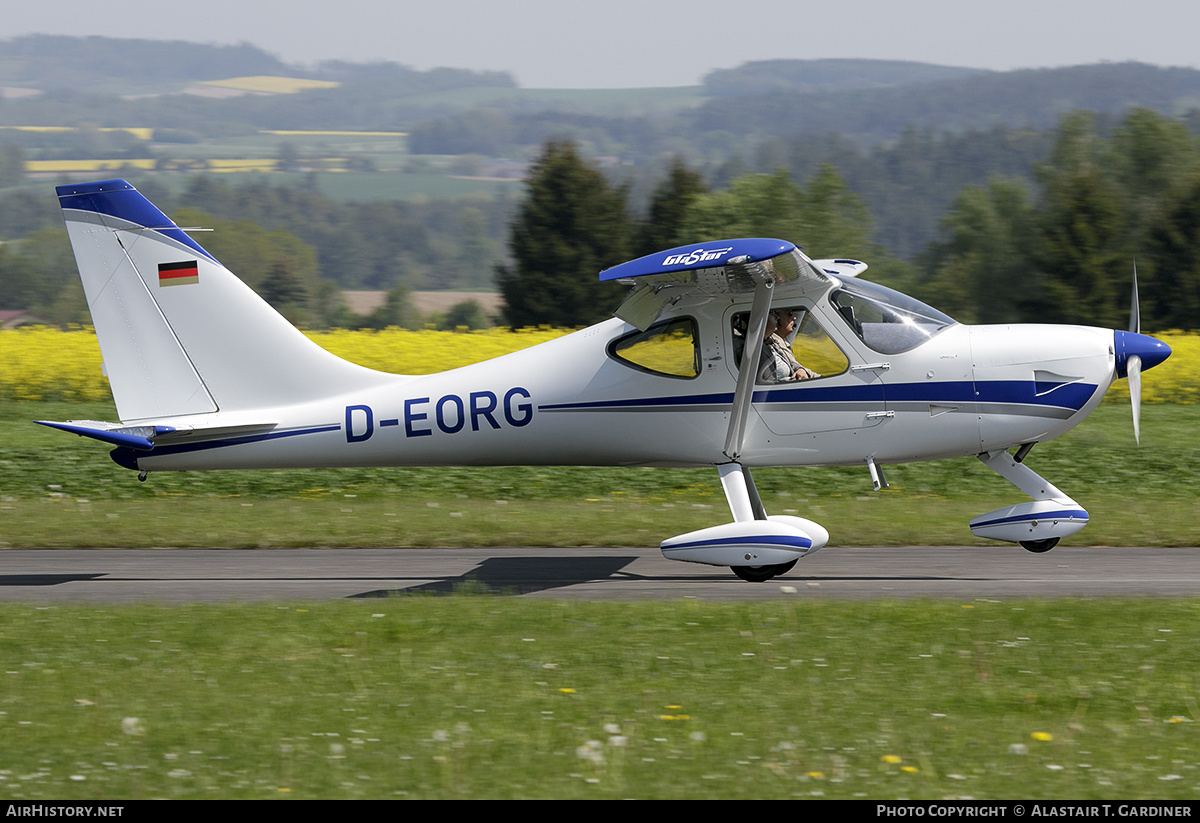
[[[745,307],[689,313],[708,342],[697,346],[692,378],[613,358],[610,342],[635,330],[611,319],[473,366],[380,376],[367,390],[258,409],[246,422],[277,421],[271,431],[164,444],[144,456],[125,450],[124,464],[713,465],[728,459],[722,444],[737,372],[722,320],[738,311]],[[744,465],[900,463],[1040,441],[1082,420],[1112,380],[1111,330],[953,325],[912,350],[880,355],[839,320],[828,312],[822,328],[846,355],[841,374],[756,386]],[[203,429],[211,420],[178,422]]]

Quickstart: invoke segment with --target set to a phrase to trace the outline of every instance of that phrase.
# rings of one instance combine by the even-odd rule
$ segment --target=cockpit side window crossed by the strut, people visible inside
[[[749,312],[733,316],[733,360],[742,367]],[[758,362],[758,384],[814,380],[841,374],[850,360],[803,306],[772,308]],[[772,337],[775,340],[773,341]]]

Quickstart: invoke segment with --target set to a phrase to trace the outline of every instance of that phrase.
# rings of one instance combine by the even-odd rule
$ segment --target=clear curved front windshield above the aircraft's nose
[[[954,325],[936,308],[866,281],[844,282],[829,295],[829,302],[859,340],[881,354],[907,352]]]

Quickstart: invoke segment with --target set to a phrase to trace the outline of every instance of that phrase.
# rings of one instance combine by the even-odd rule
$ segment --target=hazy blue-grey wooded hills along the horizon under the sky
[[[253,100],[164,94],[258,76],[340,85]],[[865,148],[913,128],[1049,128],[1079,109],[1200,109],[1200,71],[1133,62],[991,72],[894,60],[762,60],[714,71],[700,88],[551,94],[517,89],[506,72],[344,61],[302,67],[246,43],[46,35],[0,41],[0,86],[10,90],[0,107],[6,126],[408,131],[418,154],[491,156],[528,155],[548,137],[570,136],[635,163],[688,145],[696,155],[712,157],[714,145],[732,155],[746,139],[836,133]],[[22,97],[24,89],[43,94]]]

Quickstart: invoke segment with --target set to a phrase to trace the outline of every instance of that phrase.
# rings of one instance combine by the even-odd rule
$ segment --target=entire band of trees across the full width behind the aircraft
[[[884,170],[888,158],[905,162],[883,175],[890,188],[876,181],[868,191],[886,191],[913,211],[928,208],[929,192],[898,181],[919,179],[919,149],[930,139],[912,133],[911,152],[871,161]],[[776,168],[727,181],[676,157],[643,198],[632,197],[641,179],[601,169],[569,140],[542,146],[516,204],[343,204],[312,187],[234,187],[211,176],[178,194],[154,178],[138,185],[181,224],[216,228],[205,246],[311,326],[359,322],[340,307],[340,288],[392,290],[374,320],[386,325],[413,322],[408,288],[493,283],[510,325],[582,325],[608,317],[620,300],[619,287],[599,283],[604,268],[685,242],[779,236],[812,257],[866,260],[871,280],[970,323],[1123,328],[1136,265],[1146,329],[1200,328],[1200,142],[1189,124],[1147,109],[1116,121],[1076,113],[1042,140],[1045,160],[1032,174],[1019,173],[1025,155],[1013,149],[1012,164],[998,167],[1009,173],[959,187],[934,240],[910,254],[880,242],[876,200],[860,191],[865,167],[836,138],[824,154],[774,144],[764,161],[782,158]],[[1014,145],[1003,134],[994,143]],[[968,144],[955,145],[970,154]],[[851,158],[851,173],[818,162],[839,156]],[[898,168],[906,164],[917,168]],[[0,233],[19,238],[0,245],[0,308],[85,319],[60,221],[50,196],[18,190],[0,198]]]

